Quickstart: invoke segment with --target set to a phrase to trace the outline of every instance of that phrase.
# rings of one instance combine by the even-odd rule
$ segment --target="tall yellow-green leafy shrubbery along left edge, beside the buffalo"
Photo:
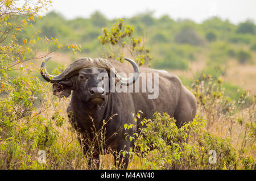
[[[60,168],[69,156],[65,155],[63,159],[60,153],[68,153],[69,145],[79,144],[69,140],[69,144],[64,146],[57,141],[61,134],[57,129],[62,127],[67,119],[61,113],[61,108],[56,109],[58,103],[53,104],[48,83],[35,76],[39,70],[31,60],[44,58],[56,50],[52,47],[60,49],[63,45],[53,37],[44,38],[43,41],[36,36],[37,33],[33,33],[31,39],[23,37],[20,43],[16,38],[19,32],[35,21],[35,16],[39,16],[43,7],[51,4],[50,1],[38,1],[36,6],[31,2],[22,3],[3,1],[1,5],[6,11],[1,9],[0,26],[9,31],[3,32],[0,37],[0,169]],[[49,52],[36,56],[36,43],[39,41],[40,44],[48,44]],[[72,47],[73,50],[77,49],[76,45]],[[10,77],[10,72],[16,76]],[[49,111],[49,107],[54,107],[52,110],[56,111]],[[52,119],[51,113],[54,115]],[[39,150],[46,151],[47,159],[51,160],[49,165],[38,162]],[[71,152],[77,153],[76,150],[72,149]]]

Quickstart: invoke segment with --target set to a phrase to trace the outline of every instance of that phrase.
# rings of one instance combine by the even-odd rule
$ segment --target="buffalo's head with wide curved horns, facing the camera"
[[[76,98],[94,105],[105,101],[109,94],[110,82],[120,81],[122,85],[131,85],[139,77],[138,65],[129,58],[125,58],[125,60],[129,61],[134,69],[134,74],[130,78],[118,75],[114,66],[103,58],[92,59],[87,57],[72,62],[59,75],[51,75],[46,70],[46,63],[49,58],[51,57],[42,62],[41,74],[46,81],[53,83],[53,94],[68,97],[73,90]],[[110,75],[114,75],[114,77],[110,77]],[[115,80],[111,81],[113,78]],[[108,82],[106,83],[106,81]]]

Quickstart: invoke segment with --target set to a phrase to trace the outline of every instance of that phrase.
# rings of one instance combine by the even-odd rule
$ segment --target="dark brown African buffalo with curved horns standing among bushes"
[[[105,146],[107,150],[112,149],[116,153],[129,151],[134,147],[134,140],[126,140],[125,133],[133,135],[141,127],[141,121],[144,118],[152,118],[156,111],[166,112],[174,117],[178,127],[195,117],[195,96],[172,73],[140,68],[139,74],[138,65],[128,58],[125,60],[129,61],[133,68],[116,60],[84,57],[72,62],[62,73],[54,76],[46,70],[49,58],[51,57],[42,62],[42,77],[53,83],[53,94],[55,95],[68,97],[73,91],[67,113],[71,123],[75,123],[76,130],[82,134],[82,138],[79,140],[84,151],[89,149],[88,140],[93,139],[93,130],[99,130],[104,124],[104,120],[109,120],[113,115],[116,116],[113,116],[113,119],[105,124]],[[126,75],[121,77],[119,73]],[[129,76],[128,73],[133,74],[129,78],[125,78]],[[141,77],[142,73],[147,78],[144,81]],[[99,78],[99,74],[104,76]],[[154,76],[152,76],[153,74]],[[114,75],[114,78],[111,75]],[[105,80],[108,80],[109,85],[102,83]],[[158,93],[156,96],[152,96],[152,91],[143,91],[143,83],[152,86],[153,82],[156,82],[154,85],[154,89],[157,88]],[[133,88],[133,92],[109,91],[118,83],[121,88],[130,87],[136,83],[141,87],[139,87],[139,91],[135,91]],[[136,122],[137,130],[123,129],[125,124],[135,123],[133,113],[136,114],[139,110],[143,113]],[[93,159],[98,161],[99,154],[100,151],[95,149]],[[129,157],[127,154],[119,155],[122,160],[121,167],[126,169]],[[116,162],[117,154],[114,154],[114,157]],[[118,166],[120,166],[119,164],[120,162],[118,162]],[[99,164],[96,165],[96,168],[98,166]]]

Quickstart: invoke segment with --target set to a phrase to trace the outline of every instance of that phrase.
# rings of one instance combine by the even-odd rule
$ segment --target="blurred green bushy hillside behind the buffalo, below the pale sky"
[[[106,49],[99,43],[100,36],[104,35],[104,30],[118,24],[117,20],[109,20],[98,11],[90,18],[67,20],[63,15],[52,11],[42,16],[40,20],[36,19],[32,22],[32,27],[19,33],[20,43],[24,38],[29,41],[31,33],[40,30],[38,36],[43,39],[57,37],[63,44],[80,44],[81,56],[90,57],[105,56]],[[146,61],[145,64],[152,68],[188,70],[193,61],[203,59],[206,65],[204,73],[212,74],[217,79],[225,74],[229,60],[236,60],[238,64],[255,62],[253,54],[256,51],[256,26],[251,20],[236,25],[228,20],[212,17],[197,24],[188,19],[174,20],[168,15],[156,19],[152,12],[147,12],[132,18],[123,18],[122,21],[123,27],[134,28],[133,36],[141,37],[138,39],[139,42],[142,42],[143,46],[146,44],[150,50],[150,56],[147,58],[150,61]],[[64,48],[59,51],[66,50]],[[130,54],[121,53],[116,58],[125,56],[130,57]],[[137,61],[144,61],[141,60]],[[49,69],[52,70],[50,66]],[[183,80],[182,77],[181,80],[185,84],[187,82],[187,85],[191,83],[191,80]]]

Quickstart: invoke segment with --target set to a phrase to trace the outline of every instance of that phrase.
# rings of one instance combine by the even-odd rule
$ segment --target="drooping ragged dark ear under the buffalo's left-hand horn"
[[[68,97],[72,91],[72,81],[61,81],[57,83],[53,83],[52,85],[53,95],[63,97]]]

